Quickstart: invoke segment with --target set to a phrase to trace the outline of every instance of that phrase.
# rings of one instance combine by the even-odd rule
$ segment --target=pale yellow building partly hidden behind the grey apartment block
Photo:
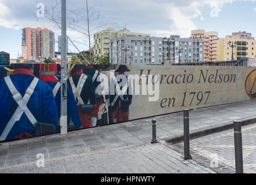
[[[136,36],[146,36],[150,37],[149,34],[140,34],[130,32],[130,30],[123,29],[123,30],[115,30],[114,28],[108,28],[103,31],[97,32],[94,34],[94,56],[101,57],[105,54],[109,53],[109,40],[114,39],[119,36],[123,35],[136,35]]]

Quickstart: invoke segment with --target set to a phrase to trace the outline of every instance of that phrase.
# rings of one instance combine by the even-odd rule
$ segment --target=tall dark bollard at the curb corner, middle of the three
[[[184,159],[189,160],[189,109],[184,109]]]

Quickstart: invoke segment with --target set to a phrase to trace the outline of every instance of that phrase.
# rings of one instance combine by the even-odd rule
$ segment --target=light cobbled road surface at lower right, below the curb
[[[256,124],[242,127],[244,173],[256,173]],[[191,140],[191,150],[235,169],[233,129]]]

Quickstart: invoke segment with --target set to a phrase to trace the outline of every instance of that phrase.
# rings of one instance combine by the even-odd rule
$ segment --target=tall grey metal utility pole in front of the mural
[[[60,134],[67,134],[67,8],[61,0],[61,113]],[[56,113],[57,114],[57,113]]]

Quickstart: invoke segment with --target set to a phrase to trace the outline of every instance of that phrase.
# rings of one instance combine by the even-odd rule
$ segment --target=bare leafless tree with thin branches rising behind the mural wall
[[[83,59],[87,64],[97,64],[100,60],[94,61],[94,56],[92,54],[92,46],[94,42],[93,33],[101,27],[105,27],[110,24],[114,24],[114,18],[108,18],[105,23],[99,23],[104,17],[100,15],[99,12],[93,8],[89,8],[88,1],[85,0],[85,8],[82,10],[67,10],[67,28],[70,34],[81,35],[79,39],[71,39],[70,34],[67,38],[70,40],[72,45],[79,51]],[[61,17],[60,10],[58,6],[61,3],[56,0],[55,4],[50,7],[50,9],[45,9],[45,17],[54,23],[58,28],[61,28]],[[81,13],[82,12],[82,13]],[[89,48],[89,56],[83,56],[81,51],[78,49],[75,43],[82,44]],[[72,53],[72,52],[71,52]],[[87,57],[87,59],[86,59]],[[78,57],[76,57],[78,59]],[[101,58],[100,58],[101,59]],[[78,60],[79,61],[79,60]]]

